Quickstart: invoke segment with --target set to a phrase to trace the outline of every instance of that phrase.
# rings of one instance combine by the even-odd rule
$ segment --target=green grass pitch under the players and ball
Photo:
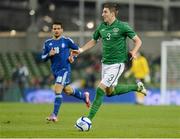
[[[74,128],[88,113],[82,103],[63,103],[57,123],[47,122],[52,104],[0,103],[0,137],[180,138],[180,107],[103,104],[89,132]]]

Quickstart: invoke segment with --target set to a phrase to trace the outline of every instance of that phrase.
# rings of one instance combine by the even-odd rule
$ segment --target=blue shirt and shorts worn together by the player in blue
[[[49,56],[51,49],[56,51],[54,56]],[[61,37],[58,40],[48,39],[43,46],[42,60],[51,60],[51,70],[56,78],[56,82],[61,84],[62,80],[69,82],[69,72],[71,71],[70,62],[68,57],[70,56],[70,49],[78,50],[78,46],[70,38]]]

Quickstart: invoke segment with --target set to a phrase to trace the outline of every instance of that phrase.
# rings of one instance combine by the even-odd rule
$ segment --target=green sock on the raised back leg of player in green
[[[137,91],[137,90],[138,90],[137,84],[129,84],[129,85],[118,84],[115,86],[114,91],[112,92],[110,97],[115,96],[115,95],[126,94],[126,93],[129,93],[131,91]]]

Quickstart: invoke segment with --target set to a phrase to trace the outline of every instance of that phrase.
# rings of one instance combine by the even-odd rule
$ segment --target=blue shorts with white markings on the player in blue
[[[63,86],[66,86],[70,84],[70,75],[71,73],[68,70],[59,70],[54,74],[55,82]]]

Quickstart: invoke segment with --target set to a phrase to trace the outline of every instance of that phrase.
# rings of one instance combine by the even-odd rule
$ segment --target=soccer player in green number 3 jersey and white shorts
[[[134,42],[134,47],[129,52],[132,58],[136,57],[142,42],[127,23],[116,18],[117,14],[117,4],[104,4],[102,11],[104,22],[95,30],[93,39],[72,53],[73,55],[80,54],[94,47],[98,39],[102,39],[102,79],[97,87],[96,96],[88,115],[88,118],[91,120],[101,106],[104,95],[111,97],[130,91],[138,91],[146,95],[146,89],[142,82],[136,84],[118,84],[118,78],[124,71],[125,63],[128,61],[126,38],[129,37]]]

